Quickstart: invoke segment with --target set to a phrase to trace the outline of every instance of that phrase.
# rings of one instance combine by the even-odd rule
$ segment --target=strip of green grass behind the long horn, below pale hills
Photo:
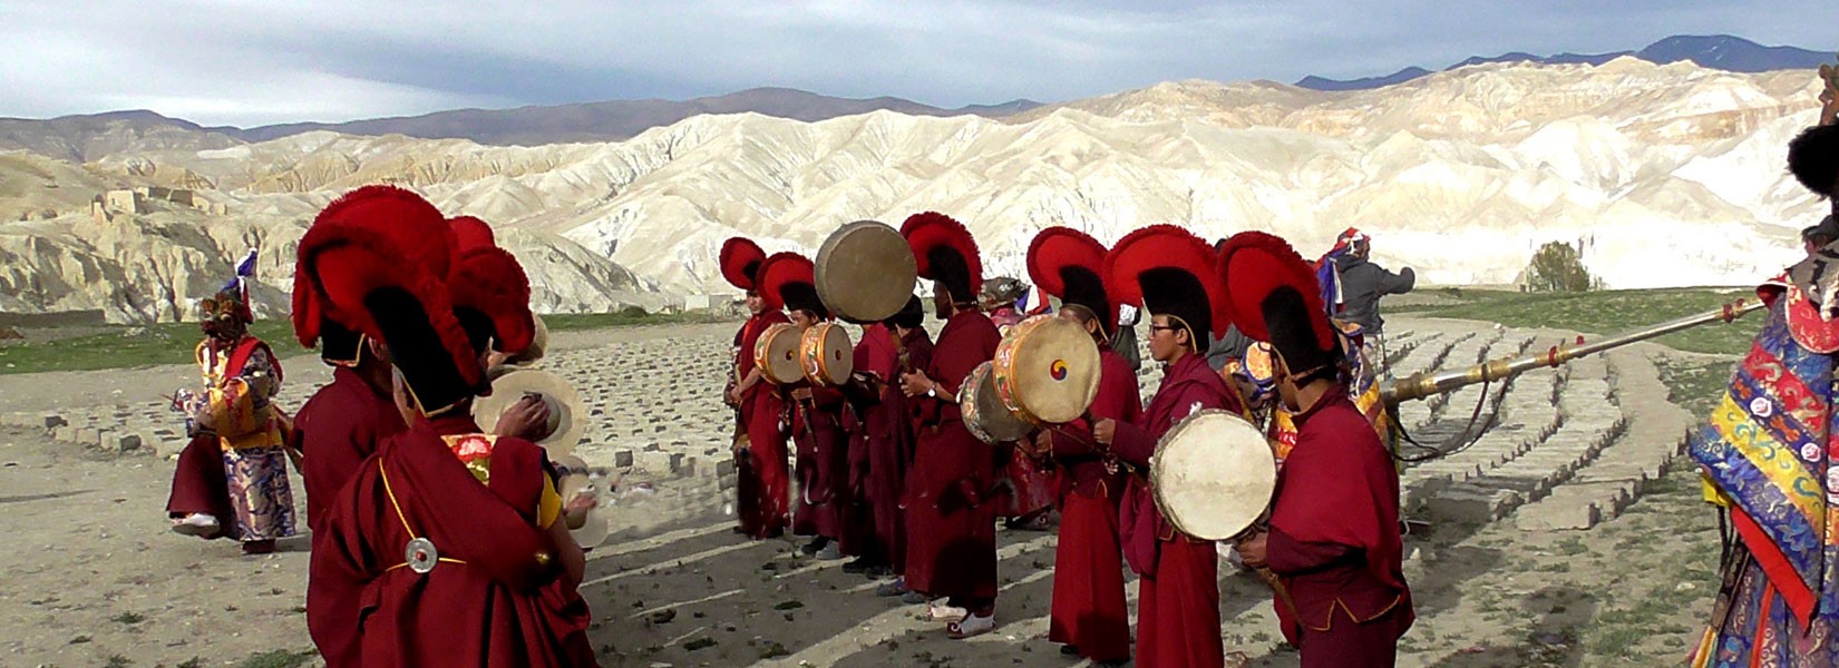
[[[1388,316],[1460,317],[1506,327],[1550,327],[1615,336],[1675,317],[1696,316],[1736,299],[1756,299],[1751,290],[1666,288],[1593,292],[1506,292],[1444,288],[1433,292],[1455,303],[1385,308]],[[1690,352],[1743,354],[1762,327],[1760,314],[1723,325],[1699,325],[1655,338],[1655,343]]]

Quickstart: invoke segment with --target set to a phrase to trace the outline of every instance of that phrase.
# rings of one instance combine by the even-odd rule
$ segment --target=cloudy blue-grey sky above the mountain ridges
[[[151,108],[248,127],[754,86],[960,106],[1639,50],[1668,35],[1835,48],[1833,26],[1833,0],[6,0],[0,116]]]

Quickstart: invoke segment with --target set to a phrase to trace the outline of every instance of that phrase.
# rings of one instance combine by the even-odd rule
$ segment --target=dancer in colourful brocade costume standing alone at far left
[[[248,334],[256,321],[241,277],[200,303],[204,341],[195,358],[204,391],[175,393],[191,442],[173,470],[166,514],[173,530],[230,538],[243,554],[274,552],[294,536],[294,494],[287,483],[287,435],[274,407],[281,365],[268,343]]]

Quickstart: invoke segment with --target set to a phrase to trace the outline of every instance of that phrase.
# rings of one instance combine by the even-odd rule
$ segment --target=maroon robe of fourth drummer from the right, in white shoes
[[[925,376],[945,389],[964,385],[997,354],[997,325],[980,312],[951,316],[938,332]],[[907,587],[953,596],[960,606],[997,596],[997,512],[991,448],[964,426],[958,404],[921,396],[914,466],[907,477]]]

